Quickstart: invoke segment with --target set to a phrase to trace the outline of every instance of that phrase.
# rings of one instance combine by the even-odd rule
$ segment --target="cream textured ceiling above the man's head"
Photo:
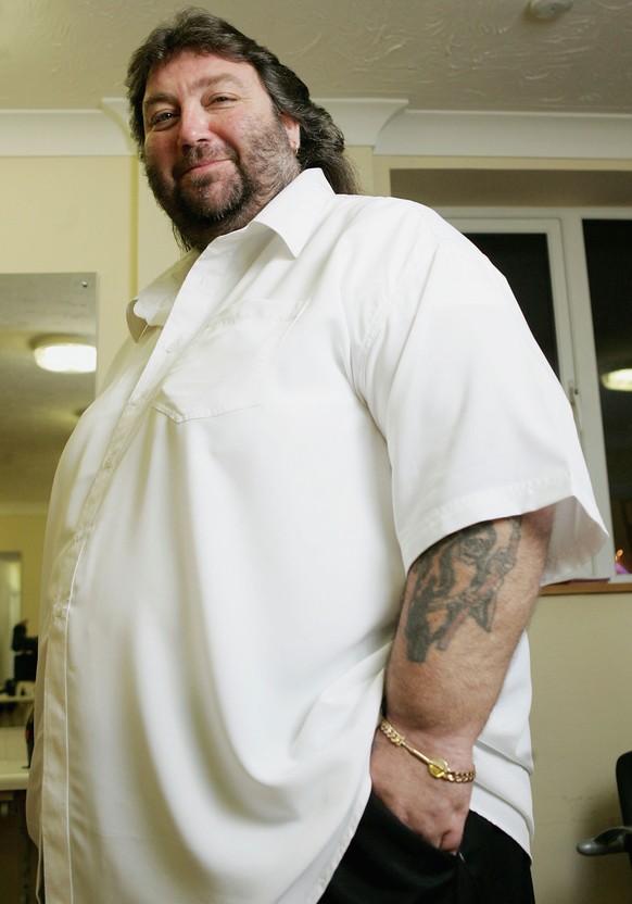
[[[99,106],[167,0],[0,0],[0,108]],[[632,0],[214,0],[314,97],[396,97],[419,110],[632,112]]]

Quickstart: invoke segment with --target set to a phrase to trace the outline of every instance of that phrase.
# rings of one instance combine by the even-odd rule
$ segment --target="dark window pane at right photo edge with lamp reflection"
[[[583,222],[599,376],[632,368],[632,221]],[[615,545],[632,572],[632,391],[599,387]]]

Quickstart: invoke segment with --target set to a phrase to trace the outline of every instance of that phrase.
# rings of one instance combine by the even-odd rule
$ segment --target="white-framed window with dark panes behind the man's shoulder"
[[[617,211],[615,218],[548,209],[440,212],[505,274],[572,404],[612,537],[578,577],[625,579],[632,572],[632,391],[608,390],[599,377],[632,368],[632,212]]]

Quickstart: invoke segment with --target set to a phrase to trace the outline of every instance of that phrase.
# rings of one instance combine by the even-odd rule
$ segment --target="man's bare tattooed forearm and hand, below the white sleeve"
[[[450,768],[472,768],[473,743],[529,622],[546,557],[551,508],[465,528],[412,565],[385,680],[385,715],[406,742]],[[433,778],[378,729],[374,790],[407,826],[455,853],[471,784]]]

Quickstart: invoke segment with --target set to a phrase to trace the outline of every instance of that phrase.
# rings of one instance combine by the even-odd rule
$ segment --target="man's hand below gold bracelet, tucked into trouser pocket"
[[[428,756],[444,757],[451,768],[459,771],[471,768],[471,748],[467,752],[467,745],[460,755],[451,745],[448,755],[447,751],[424,748],[421,740],[412,736],[406,736],[406,740]],[[370,770],[374,792],[400,821],[434,847],[456,854],[469,812],[471,783],[432,778],[424,763],[404,748],[392,744],[379,728],[374,739]]]

